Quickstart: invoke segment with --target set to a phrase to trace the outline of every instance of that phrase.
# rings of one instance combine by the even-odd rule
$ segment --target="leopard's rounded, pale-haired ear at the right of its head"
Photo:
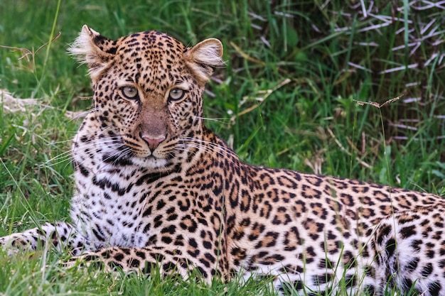
[[[188,67],[195,73],[198,80],[207,82],[212,76],[213,68],[224,67],[223,44],[215,38],[201,41],[184,53]]]

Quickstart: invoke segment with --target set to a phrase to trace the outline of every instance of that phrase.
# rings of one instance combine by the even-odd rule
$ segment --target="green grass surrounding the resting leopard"
[[[0,45],[33,52],[62,35],[20,60],[20,52],[0,48],[0,89],[38,102],[22,111],[1,103],[0,236],[68,217],[73,170],[66,151],[82,119],[65,112],[87,109],[80,97],[91,90],[85,67],[66,48],[85,23],[110,38],[156,29],[188,45],[222,40],[227,67],[208,85],[205,116],[218,119],[208,126],[248,163],[444,194],[444,45],[434,43],[445,37],[445,12],[409,9],[407,1],[396,1],[395,10],[377,0],[364,18],[361,6],[340,0],[268,3],[1,1]],[[372,29],[385,23],[376,15],[395,18]],[[409,45],[436,26],[438,35]],[[392,50],[402,45],[409,46]],[[400,94],[380,109],[354,101],[382,104]],[[60,256],[0,253],[0,295],[226,295],[218,282],[61,270]],[[257,295],[267,283],[226,289]]]

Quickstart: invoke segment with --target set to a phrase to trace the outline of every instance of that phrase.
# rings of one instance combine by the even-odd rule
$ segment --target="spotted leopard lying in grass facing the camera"
[[[208,283],[267,276],[282,295],[445,295],[442,197],[250,165],[205,127],[220,40],[112,40],[85,25],[69,53],[93,93],[71,149],[70,222],[10,233],[5,250],[50,246],[72,254],[68,265],[195,270]]]

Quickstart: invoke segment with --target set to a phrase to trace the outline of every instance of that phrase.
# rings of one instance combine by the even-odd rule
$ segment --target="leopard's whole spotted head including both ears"
[[[101,137],[117,138],[122,155],[161,168],[185,157],[186,141],[200,140],[205,82],[224,65],[219,40],[188,48],[157,31],[109,40],[83,26],[69,51],[90,68],[87,120]]]

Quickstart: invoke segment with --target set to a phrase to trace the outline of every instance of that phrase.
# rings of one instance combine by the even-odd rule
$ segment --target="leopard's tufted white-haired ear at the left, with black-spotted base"
[[[77,39],[68,48],[68,53],[74,55],[81,64],[87,64],[91,79],[97,80],[111,64],[116,50],[116,41],[109,40],[84,25]]]

